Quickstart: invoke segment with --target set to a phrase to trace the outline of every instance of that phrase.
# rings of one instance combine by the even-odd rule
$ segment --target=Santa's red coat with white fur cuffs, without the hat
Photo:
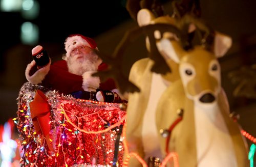
[[[98,71],[105,70],[108,66],[105,63],[101,63],[98,67]],[[42,86],[56,90],[59,93],[70,94],[77,91],[88,91],[82,88],[86,82],[90,82],[91,77],[88,75],[80,76],[72,74],[68,71],[67,62],[65,60],[57,61],[52,65],[47,65],[44,68],[35,70],[36,64],[32,61],[26,69],[26,78],[32,84],[41,84]],[[105,82],[91,81],[95,87],[101,90],[113,90],[116,89],[116,85],[113,79],[108,79]]]

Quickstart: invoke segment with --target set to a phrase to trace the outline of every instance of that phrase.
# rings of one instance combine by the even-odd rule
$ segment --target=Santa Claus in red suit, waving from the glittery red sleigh
[[[100,82],[99,77],[92,76],[97,70],[108,67],[102,63],[94,49],[98,48],[93,39],[80,34],[70,35],[65,41],[66,55],[63,60],[51,64],[50,59],[46,62],[45,58],[41,63],[34,59],[26,68],[26,78],[31,84],[41,84],[50,90],[71,94],[76,98],[118,102],[120,97],[116,93],[118,90],[114,80],[110,78]],[[46,52],[39,45],[32,49],[32,55],[43,53]],[[41,61],[44,57],[46,55],[41,56]],[[42,66],[42,63],[46,65]],[[100,91],[96,93],[96,90]]]

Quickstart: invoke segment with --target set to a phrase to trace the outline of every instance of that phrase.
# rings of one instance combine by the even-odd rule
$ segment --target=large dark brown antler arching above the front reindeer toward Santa
[[[194,1],[198,2],[199,0],[193,0],[190,5],[193,5]],[[156,9],[161,6],[161,2],[159,1],[127,1],[127,10],[131,10],[131,5],[133,3],[140,3],[140,7],[147,7],[151,5],[151,9]],[[194,9],[193,7],[189,8],[190,10]],[[131,11],[130,11],[131,12]],[[131,13],[130,13],[131,14]],[[137,12],[136,12],[137,14]],[[132,15],[131,15],[132,16]],[[148,58],[152,59],[154,61],[154,65],[151,69],[152,72],[166,74],[167,72],[170,72],[169,67],[167,66],[166,62],[164,61],[163,57],[159,53],[156,43],[158,39],[155,39],[154,33],[155,31],[159,31],[161,36],[165,32],[170,32],[173,34],[176,34],[176,36],[179,38],[181,45],[184,49],[190,49],[192,47],[191,44],[191,37],[189,38],[188,34],[188,27],[190,24],[194,24],[197,27],[197,31],[201,30],[204,32],[203,42],[206,47],[211,46],[212,40],[210,35],[212,34],[212,30],[206,26],[204,23],[202,23],[201,20],[190,16],[190,15],[184,15],[181,17],[181,19],[177,20],[177,26],[172,24],[164,24],[164,23],[156,23],[156,24],[148,24],[141,27],[136,27],[135,29],[132,29],[130,31],[127,31],[122,38],[119,45],[116,47],[113,55],[104,55],[103,53],[100,53],[96,50],[99,57],[101,59],[110,65],[109,69],[106,71],[97,72],[94,74],[94,76],[99,76],[102,81],[106,80],[108,77],[114,78],[116,81],[116,84],[120,90],[121,93],[124,92],[139,92],[139,88],[136,87],[132,82],[129,81],[129,79],[122,73],[122,60],[123,60],[123,53],[127,46],[129,46],[132,41],[134,41],[136,38],[138,38],[141,34],[144,34],[145,36],[148,36],[148,39],[150,40],[150,53],[148,55]],[[198,33],[200,34],[200,33]],[[138,58],[136,55],[132,57],[132,63],[136,62]]]

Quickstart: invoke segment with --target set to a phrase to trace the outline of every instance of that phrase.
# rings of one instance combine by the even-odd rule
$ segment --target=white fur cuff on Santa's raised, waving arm
[[[31,84],[41,84],[42,80],[45,79],[45,76],[50,71],[51,59],[48,65],[38,69],[34,74],[30,75],[31,69],[36,68],[35,66],[36,66],[36,63],[34,60],[30,64],[28,64],[25,71],[25,76]]]

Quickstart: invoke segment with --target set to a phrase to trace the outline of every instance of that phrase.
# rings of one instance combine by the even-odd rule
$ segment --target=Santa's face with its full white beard
[[[102,62],[93,49],[87,46],[73,49],[66,61],[69,72],[76,75],[82,75],[87,71],[96,71]]]

